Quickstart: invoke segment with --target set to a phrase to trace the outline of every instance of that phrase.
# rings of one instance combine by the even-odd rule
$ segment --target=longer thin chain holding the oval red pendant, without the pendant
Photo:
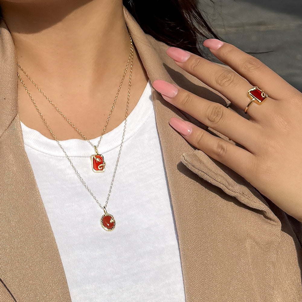
[[[113,183],[114,183],[114,178],[115,178],[115,174],[117,171],[117,165],[118,162],[120,160],[120,153],[123,147],[123,143],[124,143],[124,138],[125,138],[125,131],[126,131],[126,124],[127,124],[127,117],[128,117],[128,107],[129,107],[129,99],[130,99],[130,87],[131,87],[131,76],[132,76],[132,65],[133,65],[133,43],[132,43],[132,39],[130,37],[130,43],[131,43],[131,52],[130,52],[130,75],[129,75],[129,85],[128,85],[128,94],[127,94],[127,104],[126,104],[126,113],[125,113],[125,120],[124,120],[124,129],[123,129],[123,134],[122,134],[122,140],[120,143],[120,148],[118,151],[118,155],[117,155],[117,160],[115,163],[115,167],[114,167],[114,171],[113,171],[113,175],[112,175],[112,179],[111,179],[111,184],[109,187],[109,191],[108,191],[108,195],[107,195],[107,199],[106,202],[104,204],[104,206],[101,205],[101,203],[98,201],[98,199],[95,197],[95,195],[93,194],[93,192],[91,191],[91,189],[88,187],[88,185],[86,184],[86,182],[84,181],[84,179],[82,178],[82,176],[80,175],[80,173],[78,172],[78,170],[76,169],[75,165],[72,163],[70,157],[67,155],[65,149],[63,148],[63,146],[61,145],[61,143],[59,142],[59,140],[57,140],[55,134],[53,133],[53,131],[50,129],[49,125],[47,124],[45,118],[43,117],[43,114],[41,113],[40,109],[38,108],[36,102],[34,101],[31,93],[28,91],[26,85],[24,84],[24,82],[22,81],[20,75],[18,74],[19,79],[21,80],[21,83],[24,87],[24,89],[26,90],[27,94],[29,95],[29,97],[31,98],[32,103],[34,104],[38,114],[40,115],[41,119],[43,120],[45,126],[47,127],[48,131],[50,132],[50,134],[52,135],[53,139],[56,140],[57,144],[59,145],[59,147],[61,148],[61,150],[63,151],[64,155],[66,156],[66,158],[68,159],[70,165],[72,166],[72,169],[74,170],[74,172],[76,173],[77,177],[79,178],[79,180],[81,181],[82,185],[87,189],[87,191],[90,193],[90,195],[92,196],[92,198],[97,202],[97,204],[104,210],[104,212],[106,213],[106,207],[110,198],[110,194],[111,194],[111,190],[113,187]]]

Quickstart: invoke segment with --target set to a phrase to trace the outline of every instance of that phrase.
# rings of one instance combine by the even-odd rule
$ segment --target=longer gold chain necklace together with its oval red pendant
[[[133,43],[132,43],[132,39],[130,37],[130,43],[131,43],[131,50],[133,50]],[[114,178],[115,178],[115,174],[117,171],[117,165],[120,159],[120,153],[122,150],[122,146],[124,143],[124,137],[125,137],[125,131],[126,131],[126,124],[127,124],[127,116],[128,116],[128,106],[129,106],[129,99],[130,99],[130,87],[131,87],[131,76],[132,76],[132,64],[133,64],[133,51],[130,52],[130,75],[129,75],[129,85],[128,85],[128,94],[127,94],[127,104],[126,104],[126,112],[125,112],[125,120],[124,120],[124,129],[123,129],[123,134],[122,134],[122,140],[120,143],[120,148],[118,151],[118,155],[117,155],[117,160],[115,163],[115,167],[114,167],[114,171],[113,171],[113,175],[112,175],[112,179],[111,179],[111,184],[109,187],[109,191],[108,191],[108,195],[107,195],[107,199],[106,202],[104,204],[104,206],[101,205],[101,203],[98,201],[98,199],[95,197],[95,195],[93,194],[93,192],[91,191],[91,189],[88,187],[88,185],[86,184],[86,182],[84,181],[84,179],[82,178],[82,176],[80,175],[80,173],[78,172],[78,170],[76,169],[75,165],[72,163],[70,157],[68,156],[68,154],[66,153],[65,149],[63,148],[63,146],[61,145],[61,143],[59,142],[59,140],[57,140],[55,134],[53,133],[53,131],[50,129],[49,125],[47,124],[45,118],[43,117],[43,114],[41,113],[40,109],[38,108],[36,102],[34,101],[31,93],[28,91],[26,85],[24,84],[24,82],[22,81],[20,75],[18,74],[18,78],[21,80],[21,83],[24,87],[24,89],[26,90],[27,94],[29,95],[29,97],[31,98],[32,103],[34,104],[38,114],[40,115],[41,119],[43,120],[45,126],[47,127],[48,131],[50,132],[50,134],[52,135],[53,139],[57,142],[57,144],[59,145],[60,149],[63,151],[65,157],[68,159],[72,169],[74,170],[74,172],[76,173],[77,177],[79,178],[79,180],[81,181],[82,185],[86,188],[86,190],[89,192],[89,194],[92,196],[92,198],[97,202],[97,204],[99,205],[99,207],[101,207],[104,210],[104,215],[101,217],[100,222],[101,222],[101,226],[103,227],[104,230],[106,231],[112,231],[115,228],[115,219],[114,217],[107,213],[106,207],[110,198],[110,194],[111,194],[111,190],[113,187],[113,183],[114,183]]]

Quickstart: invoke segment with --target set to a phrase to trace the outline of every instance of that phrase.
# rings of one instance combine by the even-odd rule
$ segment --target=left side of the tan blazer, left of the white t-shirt
[[[4,112],[0,120],[0,279],[8,289],[0,282],[0,292],[2,297],[12,295],[22,302],[71,302],[53,232],[24,150],[17,114],[14,44],[3,21],[0,39],[0,106]]]

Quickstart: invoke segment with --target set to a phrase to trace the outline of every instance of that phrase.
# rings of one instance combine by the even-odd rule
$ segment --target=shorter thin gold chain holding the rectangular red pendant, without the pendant
[[[128,34],[129,34],[129,32],[128,32]],[[91,142],[90,140],[88,140],[87,137],[82,133],[82,131],[80,131],[79,128],[76,127],[76,126],[72,123],[72,121],[69,120],[68,117],[66,117],[66,115],[65,115],[65,114],[64,114],[64,113],[63,113],[63,112],[62,112],[62,111],[61,111],[61,110],[53,103],[53,101],[50,100],[50,98],[47,97],[47,95],[46,95],[46,94],[42,91],[42,89],[41,89],[41,88],[33,81],[33,79],[31,79],[31,77],[27,74],[27,72],[25,72],[25,70],[20,66],[20,64],[17,63],[18,67],[21,69],[21,71],[24,73],[24,75],[32,82],[32,84],[33,84],[33,85],[39,90],[39,92],[47,99],[47,101],[48,101],[48,102],[56,109],[56,111],[59,112],[59,114],[60,114],[60,115],[61,115],[61,116],[69,123],[70,126],[72,126],[73,129],[76,130],[77,133],[79,133],[80,136],[83,137],[84,140],[86,140],[93,148],[96,147],[96,149],[98,149],[98,146],[100,145],[101,140],[102,140],[102,137],[103,137],[103,135],[104,135],[104,133],[105,133],[105,131],[106,131],[107,125],[108,125],[108,123],[109,123],[111,114],[112,114],[113,109],[114,109],[114,106],[115,106],[115,103],[116,103],[116,101],[117,101],[117,97],[118,97],[118,95],[119,95],[119,93],[120,93],[120,89],[121,89],[121,87],[122,87],[122,84],[123,84],[123,82],[124,82],[124,78],[125,78],[126,73],[127,73],[127,69],[128,69],[129,63],[130,63],[131,55],[133,55],[133,43],[132,43],[132,38],[131,38],[130,34],[129,34],[129,37],[130,37],[130,53],[129,53],[129,58],[128,58],[126,67],[125,67],[125,69],[124,69],[124,73],[123,73],[122,79],[121,79],[121,81],[120,81],[120,85],[119,85],[119,87],[118,87],[118,89],[117,89],[117,93],[116,93],[116,95],[115,95],[114,102],[113,102],[113,104],[112,104],[111,110],[110,110],[109,115],[108,115],[108,118],[107,118],[107,120],[106,120],[104,129],[103,129],[103,131],[102,131],[102,134],[101,134],[100,139],[98,140],[98,143],[97,143],[96,146],[94,146],[94,145],[92,144],[92,142]],[[24,86],[25,84],[24,84],[24,82],[23,82],[23,80],[22,80],[22,78],[21,78],[21,76],[20,76],[19,74],[18,74],[18,78],[20,79],[21,83],[22,83],[23,86]]]

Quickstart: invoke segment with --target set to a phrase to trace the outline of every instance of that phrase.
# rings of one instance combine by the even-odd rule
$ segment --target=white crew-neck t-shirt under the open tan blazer
[[[185,301],[177,234],[147,86],[127,119],[124,145],[108,213],[115,229],[77,178],[54,140],[21,123],[25,150],[61,255],[72,302]],[[93,148],[84,140],[61,141],[76,169],[104,205],[124,122],[104,134],[99,152],[106,170],[95,173]],[[93,144],[98,138],[91,140]],[[41,165],[43,163],[43,165]],[[47,164],[47,169],[43,168]]]

